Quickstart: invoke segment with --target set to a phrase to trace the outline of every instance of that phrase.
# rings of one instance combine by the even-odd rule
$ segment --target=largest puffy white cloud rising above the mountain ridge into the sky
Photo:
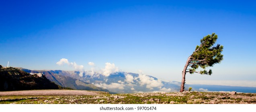
[[[111,64],[109,62],[105,63],[106,66],[105,68],[102,70],[102,75],[104,76],[109,76],[112,73],[118,72],[118,67],[115,66],[115,64]]]

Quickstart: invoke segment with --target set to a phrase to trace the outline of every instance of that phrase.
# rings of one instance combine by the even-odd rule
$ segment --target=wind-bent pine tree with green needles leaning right
[[[208,66],[213,66],[216,63],[220,63],[223,60],[223,55],[221,52],[223,51],[223,46],[217,44],[217,46],[213,46],[216,42],[218,36],[213,34],[208,34],[207,36],[201,39],[200,46],[197,46],[195,51],[188,57],[186,61],[186,65],[182,71],[182,81],[180,86],[180,92],[184,91],[185,84],[185,76],[186,73],[199,73],[199,74],[208,74],[211,75],[211,69],[209,71],[205,70]],[[196,71],[198,67],[203,68],[204,70]]]

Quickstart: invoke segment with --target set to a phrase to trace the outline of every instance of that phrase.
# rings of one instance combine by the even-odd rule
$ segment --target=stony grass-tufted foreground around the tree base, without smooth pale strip
[[[189,93],[189,92],[188,92]],[[236,94],[236,95],[232,95]],[[140,94],[111,94],[98,96],[44,96],[44,97],[25,97],[36,98],[37,100],[18,101],[16,104],[125,104],[125,97],[140,97],[141,104],[256,104],[256,94],[240,92],[193,92],[184,94],[181,92],[170,93],[140,93]],[[158,97],[154,97],[158,96]],[[185,96],[185,97],[183,97]],[[50,98],[50,99],[49,99]],[[19,98],[0,98],[0,101],[7,100],[11,104],[12,100]],[[51,100],[52,99],[52,100]],[[184,100],[177,100],[184,99]],[[106,101],[105,101],[106,100]],[[184,102],[185,101],[185,102]],[[129,103],[129,102],[128,102]]]

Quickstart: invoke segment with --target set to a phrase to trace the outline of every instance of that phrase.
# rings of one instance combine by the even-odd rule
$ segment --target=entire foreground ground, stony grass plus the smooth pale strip
[[[182,93],[108,94],[84,90],[46,91],[17,91],[16,94],[0,92],[0,104],[256,104],[256,94],[253,93],[186,91]],[[51,92],[55,94],[49,94]]]

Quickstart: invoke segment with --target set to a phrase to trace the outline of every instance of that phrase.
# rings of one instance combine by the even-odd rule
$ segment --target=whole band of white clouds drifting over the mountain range
[[[161,80],[142,74],[142,70],[139,70],[140,74],[137,75],[126,72],[118,73],[124,75],[124,77],[119,76],[115,78],[113,73],[120,72],[120,70],[114,63],[106,62],[104,68],[95,70],[96,65],[94,62],[88,62],[88,65],[91,66],[89,71],[85,71],[83,65],[78,65],[76,62],[69,62],[66,58],[60,59],[56,64],[59,66],[68,64],[75,70],[80,71],[79,76],[87,75],[99,79],[98,81],[92,82],[92,84],[110,90],[111,92],[171,92],[170,88],[162,87],[164,84]],[[114,75],[114,79],[109,78],[111,74]],[[100,77],[100,75],[104,77]]]

